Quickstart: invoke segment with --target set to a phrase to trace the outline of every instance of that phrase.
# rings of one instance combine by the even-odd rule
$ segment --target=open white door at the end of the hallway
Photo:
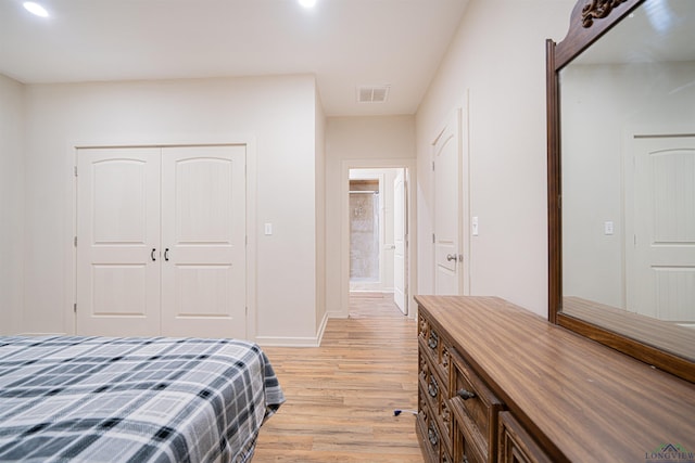
[[[408,314],[406,284],[406,183],[404,169],[393,181],[393,299],[404,314]]]

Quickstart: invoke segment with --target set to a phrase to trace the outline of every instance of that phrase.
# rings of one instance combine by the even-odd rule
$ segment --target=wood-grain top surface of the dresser
[[[497,297],[415,299],[552,460],[649,462],[667,445],[695,453],[694,384]]]

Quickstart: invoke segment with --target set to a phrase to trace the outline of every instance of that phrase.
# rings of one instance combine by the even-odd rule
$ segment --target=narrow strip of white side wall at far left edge
[[[22,324],[24,87],[0,74],[0,334]]]

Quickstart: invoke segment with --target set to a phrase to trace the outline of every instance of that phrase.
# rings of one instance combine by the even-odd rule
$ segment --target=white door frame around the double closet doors
[[[178,139],[173,137],[156,137],[142,139],[142,137],[118,138],[116,140],[77,140],[70,142],[65,156],[65,210],[70,211],[64,227],[64,259],[63,279],[65,300],[63,303],[63,330],[64,334],[75,335],[77,314],[75,304],[77,300],[77,152],[89,147],[169,147],[169,146],[219,146],[219,145],[245,145],[247,146],[247,338],[255,340],[257,316],[257,226],[256,226],[256,185],[257,185],[257,156],[256,140],[250,134],[230,134],[226,137],[193,137]]]

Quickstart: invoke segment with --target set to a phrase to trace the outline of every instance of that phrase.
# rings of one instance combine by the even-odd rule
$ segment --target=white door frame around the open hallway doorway
[[[415,317],[413,295],[417,292],[417,215],[415,188],[417,181],[417,159],[345,159],[341,164],[340,175],[340,317],[350,313],[350,170],[351,169],[393,169],[403,168],[407,182],[407,313]]]

